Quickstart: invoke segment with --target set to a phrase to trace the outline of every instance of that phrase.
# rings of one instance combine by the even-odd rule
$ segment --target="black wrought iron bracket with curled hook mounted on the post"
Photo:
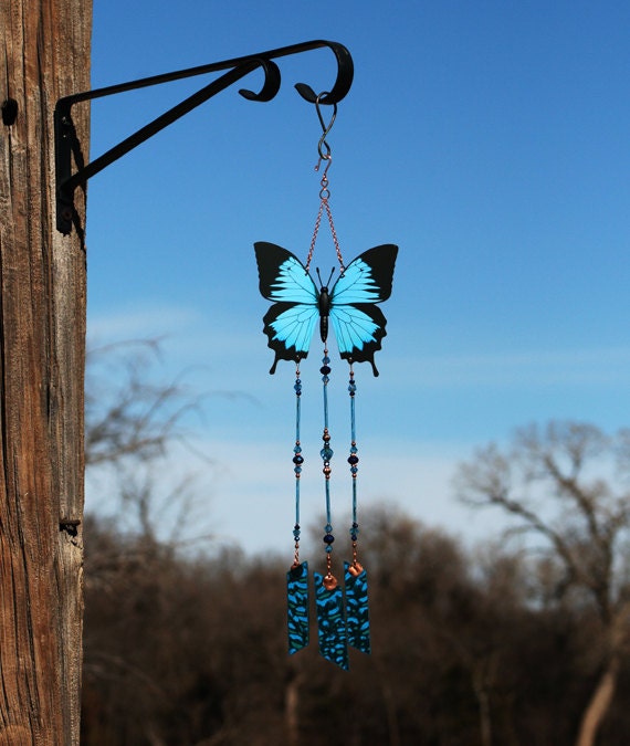
[[[87,179],[102,171],[109,166],[109,164],[113,164],[115,160],[129,153],[129,150],[133,150],[140,145],[140,143],[149,139],[185,114],[188,114],[203,102],[221,91],[224,91],[259,67],[264,72],[264,83],[262,88],[258,93],[241,88],[239,93],[248,101],[271,101],[280,91],[281,84],[280,67],[273,62],[274,59],[301,54],[302,52],[308,52],[326,46],[335,53],[337,60],[337,80],[334,85],[329,87],[328,93],[319,98],[319,104],[336,104],[344,98],[353,84],[353,57],[343,44],[323,40],[292,44],[291,46],[282,46],[277,50],[250,54],[244,57],[223,60],[222,62],[211,62],[198,67],[189,67],[188,70],[179,70],[162,75],[153,75],[151,77],[144,77],[138,81],[111,85],[104,88],[95,88],[94,91],[84,91],[83,93],[75,93],[71,96],[60,98],[54,111],[57,230],[64,235],[67,235],[72,231],[73,222],[77,220],[76,211],[74,209],[74,190],[76,187],[85,185]],[[83,161],[81,144],[78,143],[72,122],[72,106],[74,104],[92,101],[93,98],[103,98],[104,96],[112,96],[117,93],[125,93],[126,91],[136,88],[170,83],[171,81],[192,77],[195,75],[220,72],[222,70],[227,70],[228,72],[213,80],[209,85],[206,85],[180,104],[168,109],[161,116],[158,116],[156,119],[145,125],[90,164]],[[317,94],[306,83],[296,83],[295,88],[307,102],[313,104],[316,102]],[[73,156],[77,169],[74,174],[72,172]]]

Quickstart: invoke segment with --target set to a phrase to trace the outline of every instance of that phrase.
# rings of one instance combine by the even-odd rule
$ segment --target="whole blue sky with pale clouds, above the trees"
[[[630,6],[96,0],[93,87],[322,38],[356,69],[328,138],[342,251],[400,246],[381,375],[356,371],[359,494],[481,536],[450,485],[474,446],[552,418],[628,425]],[[166,378],[246,395],[208,399],[198,442],[214,466],[178,454],[170,472],[199,472],[227,540],[290,553],[293,369],[267,372],[252,244],[306,256],[321,129],[293,84],[325,90],[335,65],[322,50],[280,66],[273,102],[229,90],[91,180],[88,336],[164,337]],[[95,102],[93,157],[204,80]],[[316,256],[333,266],[325,227]],[[318,357],[302,367],[305,524],[323,511]],[[339,455],[346,374],[336,361]],[[102,500],[92,485],[88,507]]]

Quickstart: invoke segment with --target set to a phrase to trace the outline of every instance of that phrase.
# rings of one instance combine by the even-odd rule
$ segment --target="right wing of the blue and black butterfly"
[[[386,243],[359,254],[339,276],[330,292],[330,322],[342,358],[370,363],[387,335],[387,321],[375,304],[391,295],[398,246]]]

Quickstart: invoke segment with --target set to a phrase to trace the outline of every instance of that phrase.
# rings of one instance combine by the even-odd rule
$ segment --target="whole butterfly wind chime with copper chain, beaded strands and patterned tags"
[[[302,482],[304,453],[301,441],[301,401],[303,385],[300,371],[301,361],[307,357],[315,328],[319,328],[319,337],[324,345],[319,372],[323,382],[324,428],[323,446],[319,455],[323,461],[326,524],[323,542],[326,549],[325,574],[313,572],[315,586],[315,607],[317,612],[317,635],[321,654],[344,670],[348,669],[348,647],[369,653],[370,627],[368,611],[367,574],[358,558],[358,512],[357,512],[357,476],[358,445],[355,422],[355,401],[357,386],[354,364],[369,363],[375,376],[375,354],[381,349],[387,335],[387,321],[379,305],[391,295],[393,266],[398,255],[398,246],[385,243],[368,249],[359,254],[347,266],[344,264],[337,233],[333,222],[333,213],[328,203],[329,190],[327,171],[330,166],[330,147],[326,136],[333,126],[337,111],[334,105],[333,117],[326,126],[316,101],[316,111],[322,125],[323,135],[317,151],[319,161],[326,162],[319,191],[319,211],[311,241],[311,249],[303,264],[297,256],[286,249],[267,241],[254,243],[259,270],[259,287],[262,296],[272,305],[263,316],[263,333],[267,337],[267,346],[274,353],[270,374],[274,374],[280,360],[295,364],[295,444],[293,448],[293,471],[295,475],[295,523],[293,526],[294,555],[293,565],[286,574],[287,631],[288,653],[293,654],[308,644],[309,640],[309,581],[308,563],[300,559],[300,485]],[[322,217],[326,212],[330,233],[339,262],[339,273],[333,283],[335,270],[323,281],[319,270],[316,280],[309,267],[319,230]],[[332,284],[333,283],[333,284]],[[333,572],[333,544],[335,535],[332,518],[332,435],[328,428],[328,383],[332,361],[328,357],[328,336],[334,333],[342,359],[349,363],[348,393],[350,402],[350,445],[347,458],[351,477],[351,560],[344,563],[343,587]]]

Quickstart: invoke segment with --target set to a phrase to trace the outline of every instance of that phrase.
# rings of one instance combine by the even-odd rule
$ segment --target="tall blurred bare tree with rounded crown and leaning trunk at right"
[[[513,448],[491,444],[460,466],[456,490],[476,507],[514,518],[512,534],[534,535],[538,564],[557,602],[591,609],[598,620],[599,677],[576,746],[592,746],[615,695],[630,641],[630,437],[591,424],[552,422],[519,430]]]

